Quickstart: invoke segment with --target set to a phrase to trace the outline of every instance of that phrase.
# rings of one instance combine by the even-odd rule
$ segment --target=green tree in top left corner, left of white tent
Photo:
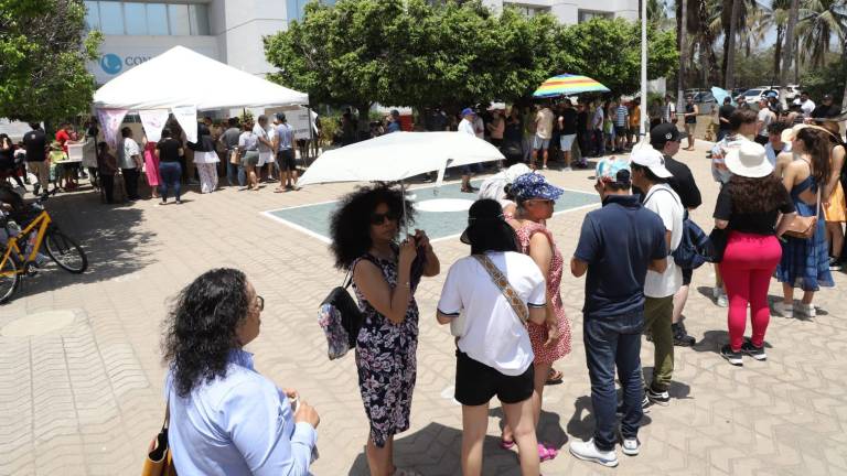
[[[85,32],[82,0],[0,0],[0,117],[66,118],[88,109],[99,32]]]

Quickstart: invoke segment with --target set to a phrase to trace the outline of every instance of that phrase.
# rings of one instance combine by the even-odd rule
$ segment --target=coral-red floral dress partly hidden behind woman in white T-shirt
[[[529,240],[533,235],[543,232],[550,240],[553,247],[553,260],[550,261],[549,274],[544,277],[547,280],[547,293],[553,296],[551,302],[553,312],[559,323],[559,342],[553,347],[545,347],[544,343],[547,342],[547,326],[527,323],[527,331],[529,331],[529,342],[533,344],[533,353],[535,354],[536,364],[553,364],[556,360],[570,354],[570,323],[568,316],[565,315],[565,309],[561,304],[561,295],[559,294],[559,285],[561,284],[561,273],[564,271],[565,260],[561,257],[561,251],[556,247],[556,242],[553,240],[553,234],[540,224],[527,221],[516,230],[517,239],[521,241],[521,252],[529,255]]]

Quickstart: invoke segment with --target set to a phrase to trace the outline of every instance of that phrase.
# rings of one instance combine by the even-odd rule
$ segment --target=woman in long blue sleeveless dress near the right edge
[[[782,302],[773,304],[773,311],[783,317],[798,314],[811,318],[817,315],[812,300],[822,286],[835,285],[829,271],[829,250],[826,244],[826,225],[818,203],[828,196],[830,177],[828,131],[817,126],[798,125],[783,132],[783,140],[791,141],[792,151],[800,156],[783,173],[782,183],[791,194],[800,216],[817,216],[815,234],[811,238],[785,237],[782,259],[776,267],[776,279],[782,283]],[[803,300],[794,305],[794,288],[803,290]]]

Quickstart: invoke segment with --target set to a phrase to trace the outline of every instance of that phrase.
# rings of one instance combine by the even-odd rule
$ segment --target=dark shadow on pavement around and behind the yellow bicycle
[[[44,206],[60,229],[83,247],[88,269],[71,274],[51,261],[23,281],[17,298],[119,278],[151,262],[156,234],[138,226],[143,210],[128,204],[101,204],[99,195],[90,192],[54,196]]]

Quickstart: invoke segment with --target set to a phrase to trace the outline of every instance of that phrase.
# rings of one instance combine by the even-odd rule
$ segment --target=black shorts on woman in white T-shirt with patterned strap
[[[532,365],[522,375],[511,377],[455,350],[455,400],[464,405],[485,404],[494,396],[502,403],[519,403],[533,396],[533,376]]]

